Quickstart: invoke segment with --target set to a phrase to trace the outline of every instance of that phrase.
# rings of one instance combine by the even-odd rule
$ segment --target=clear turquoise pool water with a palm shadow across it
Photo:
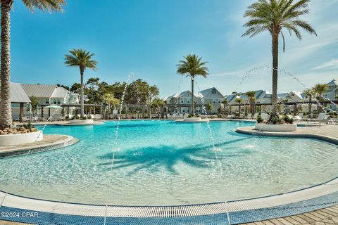
[[[206,123],[122,121],[118,148],[116,122],[47,126],[44,134],[80,142],[1,158],[0,190],[73,203],[182,205],[293,191],[337,176],[337,146],[233,131],[249,125],[211,122],[215,148]]]

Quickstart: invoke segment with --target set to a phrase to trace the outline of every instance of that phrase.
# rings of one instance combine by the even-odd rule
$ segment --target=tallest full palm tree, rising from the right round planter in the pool
[[[247,27],[246,32],[242,36],[253,37],[261,32],[268,31],[272,38],[273,53],[273,109],[271,118],[277,115],[277,79],[278,79],[278,41],[280,35],[283,40],[283,51],[285,51],[285,41],[283,29],[289,34],[296,34],[301,40],[301,32],[299,27],[310,34],[315,34],[315,30],[311,25],[301,20],[301,15],[308,13],[308,2],[310,0],[258,0],[249,6],[244,13],[244,18],[249,18],[249,22],[244,24]]]

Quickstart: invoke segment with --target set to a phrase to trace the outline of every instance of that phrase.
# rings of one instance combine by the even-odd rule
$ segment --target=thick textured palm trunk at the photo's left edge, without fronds
[[[1,1],[0,128],[11,127],[11,5]]]

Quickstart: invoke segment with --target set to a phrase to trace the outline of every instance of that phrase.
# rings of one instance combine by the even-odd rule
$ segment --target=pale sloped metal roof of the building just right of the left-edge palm
[[[56,89],[55,84],[21,84],[27,96],[37,98],[51,98]]]

